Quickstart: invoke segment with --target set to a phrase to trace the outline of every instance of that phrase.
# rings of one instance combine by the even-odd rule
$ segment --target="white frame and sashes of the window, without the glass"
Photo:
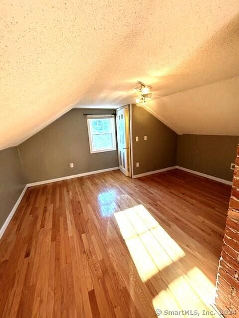
[[[90,120],[91,119],[104,119],[104,117],[111,119],[111,133],[112,133],[112,143],[113,147],[112,148],[102,148],[102,149],[97,149],[93,150],[93,140],[92,140],[92,135],[99,135],[99,134],[93,134],[91,131],[91,124]],[[114,151],[116,150],[116,127],[115,127],[115,116],[114,115],[89,115],[87,116],[87,129],[88,129],[88,137],[89,137],[89,145],[90,145],[90,153],[95,154],[95,153],[103,153],[107,151]],[[105,134],[105,133],[102,133]]]

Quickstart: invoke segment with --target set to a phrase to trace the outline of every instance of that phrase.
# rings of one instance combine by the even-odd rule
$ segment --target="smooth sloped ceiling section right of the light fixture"
[[[147,110],[178,134],[239,136],[239,76],[152,100]]]

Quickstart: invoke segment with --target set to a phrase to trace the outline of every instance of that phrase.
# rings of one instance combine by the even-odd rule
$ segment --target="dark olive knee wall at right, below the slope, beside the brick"
[[[180,135],[177,165],[232,181],[238,136]]]

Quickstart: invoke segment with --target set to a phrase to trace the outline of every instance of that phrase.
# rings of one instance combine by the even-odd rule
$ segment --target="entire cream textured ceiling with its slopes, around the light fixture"
[[[137,80],[176,131],[239,134],[238,0],[9,0],[0,11],[0,149],[74,106],[133,102]]]

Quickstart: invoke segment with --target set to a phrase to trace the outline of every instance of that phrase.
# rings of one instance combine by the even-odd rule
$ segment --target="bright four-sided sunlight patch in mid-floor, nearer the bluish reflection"
[[[114,215],[142,281],[185,256],[143,205]]]

